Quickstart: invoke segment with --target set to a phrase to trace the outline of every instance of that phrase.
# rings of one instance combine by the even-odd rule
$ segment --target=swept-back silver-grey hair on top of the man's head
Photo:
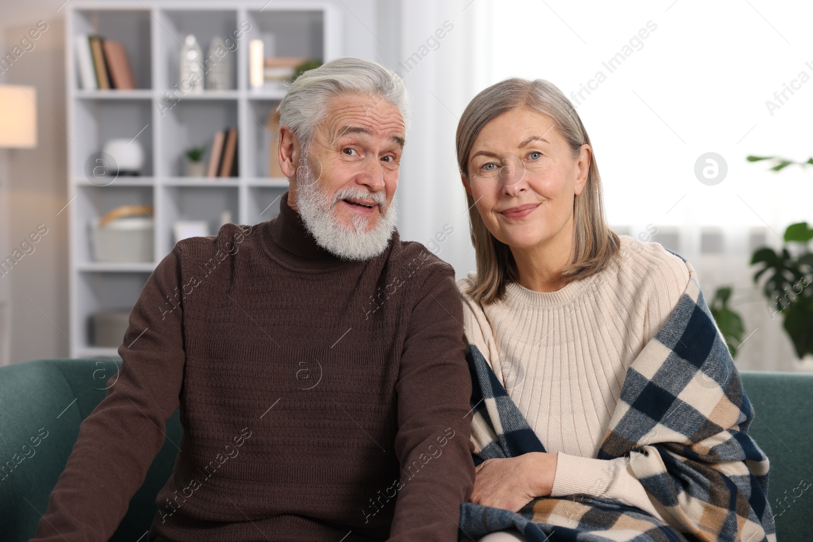
[[[325,106],[345,93],[368,93],[397,106],[409,127],[411,98],[397,73],[370,60],[343,57],[303,72],[291,84],[278,107],[280,124],[287,124],[307,154]]]

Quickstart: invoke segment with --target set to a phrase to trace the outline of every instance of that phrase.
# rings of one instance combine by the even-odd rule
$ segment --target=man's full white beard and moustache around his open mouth
[[[307,154],[303,163],[309,163]],[[304,173],[301,173],[305,170]],[[395,198],[386,206],[383,191],[370,192],[357,186],[337,190],[333,197],[320,189],[311,167],[299,167],[296,173],[297,206],[305,228],[316,240],[316,244],[331,254],[345,260],[363,261],[375,258],[387,248],[395,231],[397,213]],[[336,216],[336,205],[345,198],[372,199],[378,208],[386,210],[380,216],[375,228],[367,232],[370,218],[353,215],[350,227],[341,223]]]

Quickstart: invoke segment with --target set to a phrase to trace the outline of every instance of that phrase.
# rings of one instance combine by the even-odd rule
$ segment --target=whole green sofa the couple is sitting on
[[[3,542],[33,536],[80,423],[105,396],[108,382],[115,382],[116,371],[109,359],[41,359],[0,368]],[[741,376],[757,415],[750,435],[771,459],[777,539],[810,540],[805,518],[813,517],[813,465],[808,465],[813,422],[803,420],[813,411],[813,375],[743,371]],[[167,421],[167,436],[178,442],[181,431],[176,412]],[[155,496],[172,472],[176,452],[170,442],[164,444],[110,540],[135,542],[150,528]]]

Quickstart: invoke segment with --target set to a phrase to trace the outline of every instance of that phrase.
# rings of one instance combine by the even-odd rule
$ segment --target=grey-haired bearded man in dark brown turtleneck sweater
[[[471,383],[453,270],[394,226],[407,109],[359,59],[291,85],[280,215],[160,262],[35,540],[107,540],[179,407],[149,540],[457,540]]]

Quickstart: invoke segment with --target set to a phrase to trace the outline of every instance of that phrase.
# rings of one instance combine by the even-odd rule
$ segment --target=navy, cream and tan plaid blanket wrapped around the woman
[[[682,259],[682,258],[681,258]],[[629,456],[663,506],[650,514],[599,496],[538,497],[519,513],[464,503],[461,540],[515,528],[528,540],[775,541],[768,459],[747,435],[754,411],[697,275],[629,366],[598,459]],[[545,452],[489,363],[470,345],[475,464]],[[542,436],[544,438],[544,436]]]

